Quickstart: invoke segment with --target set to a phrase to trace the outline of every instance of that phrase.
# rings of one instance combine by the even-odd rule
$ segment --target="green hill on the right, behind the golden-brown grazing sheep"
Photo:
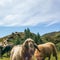
[[[45,42],[55,43],[57,50],[60,51],[60,31],[50,32],[41,36],[42,40]]]

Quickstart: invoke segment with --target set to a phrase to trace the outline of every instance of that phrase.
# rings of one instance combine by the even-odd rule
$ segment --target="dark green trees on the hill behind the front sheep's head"
[[[12,33],[12,36],[14,36],[14,33]],[[43,41],[40,37],[40,34],[34,34],[30,32],[30,29],[27,28],[24,30],[24,38],[22,39],[19,34],[15,35],[15,38],[10,39],[11,42],[13,42],[15,45],[22,44],[27,38],[32,38],[36,44],[42,44]]]

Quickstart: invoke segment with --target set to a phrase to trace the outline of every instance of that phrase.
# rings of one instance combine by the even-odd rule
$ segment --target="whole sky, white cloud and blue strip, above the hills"
[[[12,32],[60,31],[60,0],[0,0],[0,37]]]

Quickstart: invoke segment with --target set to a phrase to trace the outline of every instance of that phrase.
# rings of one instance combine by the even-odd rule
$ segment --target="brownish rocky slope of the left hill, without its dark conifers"
[[[34,33],[30,32],[30,34],[31,34],[31,36],[32,35],[35,36]],[[25,35],[26,34],[24,32],[13,32],[10,35],[7,35],[7,36],[4,36],[4,37],[0,38],[0,42],[3,41],[3,40],[6,40],[6,39],[8,39],[9,41],[17,40],[17,39],[24,40],[25,39]]]

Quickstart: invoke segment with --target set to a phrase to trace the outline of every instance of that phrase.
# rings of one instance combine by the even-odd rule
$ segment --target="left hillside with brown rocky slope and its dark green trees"
[[[22,44],[27,38],[32,38],[33,40],[36,39],[37,43],[37,38],[40,38],[40,35],[38,34],[37,36],[36,34],[30,32],[29,28],[27,28],[24,30],[24,32],[13,32],[10,35],[0,38],[0,42],[7,40],[8,42],[12,42],[14,44]]]

